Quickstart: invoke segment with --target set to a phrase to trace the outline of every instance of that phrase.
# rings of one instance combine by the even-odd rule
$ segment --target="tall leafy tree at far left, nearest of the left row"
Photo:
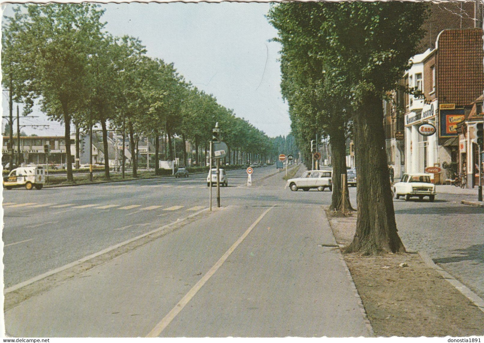
[[[23,52],[29,73],[19,83],[29,85],[27,104],[40,99],[41,109],[51,119],[64,123],[67,179],[73,181],[70,130],[73,114],[82,108],[91,90],[87,71],[89,57],[98,48],[104,13],[92,3],[23,6],[7,18],[15,28],[16,46]],[[8,29],[7,29],[8,30]],[[27,106],[29,107],[29,106]]]

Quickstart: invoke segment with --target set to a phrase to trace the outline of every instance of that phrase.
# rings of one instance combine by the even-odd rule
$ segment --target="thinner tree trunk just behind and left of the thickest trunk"
[[[344,197],[341,189],[341,174],[347,174],[345,129],[342,126],[336,127],[330,132],[330,140],[333,147],[333,194],[330,209],[338,212],[343,209],[353,210],[349,202],[348,183],[345,186]]]

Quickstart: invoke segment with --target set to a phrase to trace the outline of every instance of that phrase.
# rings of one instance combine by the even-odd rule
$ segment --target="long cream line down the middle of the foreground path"
[[[171,311],[166,314],[165,318],[163,318],[161,322],[159,322],[146,337],[158,337],[163,332],[163,330],[171,323],[171,321],[177,316],[177,314],[180,313],[181,310],[183,310],[185,305],[188,304],[188,302],[190,302],[190,300],[197,294],[200,288],[202,288],[203,285],[212,277],[212,275],[215,274],[218,268],[220,268],[224,264],[228,256],[230,256],[230,254],[234,252],[239,244],[242,243],[242,241],[250,234],[252,229],[256,227],[256,225],[262,220],[262,218],[264,218],[264,216],[274,207],[275,205],[272,206],[270,209],[266,209],[259,216],[259,218],[257,218],[257,220],[252,225],[250,225],[250,227],[243,233],[243,235],[239,239],[237,239],[234,244],[232,244],[230,249],[228,249],[222,257],[220,257],[217,263],[215,263],[213,267],[210,268],[210,270],[195,284],[195,286],[193,286],[192,289],[190,289],[190,291],[188,291],[188,293],[183,298],[181,298],[178,304],[176,304],[175,307],[173,307]]]

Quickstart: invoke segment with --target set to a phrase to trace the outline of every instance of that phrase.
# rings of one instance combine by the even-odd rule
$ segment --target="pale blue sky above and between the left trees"
[[[264,15],[268,3],[108,3],[103,20],[115,36],[138,37],[148,55],[173,62],[194,86],[213,94],[218,103],[234,110],[269,136],[287,135],[290,120],[280,94],[280,45],[269,40],[276,30]],[[4,15],[12,5],[3,4]],[[8,115],[3,92],[3,115]],[[15,112],[14,112],[15,113]],[[40,115],[34,113],[32,115]],[[46,119],[21,119],[45,123]],[[63,134],[62,125],[47,122],[42,131],[27,134]],[[14,126],[16,127],[16,126]]]

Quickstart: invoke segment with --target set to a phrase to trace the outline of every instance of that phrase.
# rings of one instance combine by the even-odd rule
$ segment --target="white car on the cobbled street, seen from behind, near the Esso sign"
[[[420,200],[424,196],[428,196],[430,202],[435,200],[435,185],[430,182],[430,174],[411,173],[404,174],[400,182],[393,185],[393,194],[395,199],[400,196],[405,196],[408,201],[412,196],[418,197]]]

